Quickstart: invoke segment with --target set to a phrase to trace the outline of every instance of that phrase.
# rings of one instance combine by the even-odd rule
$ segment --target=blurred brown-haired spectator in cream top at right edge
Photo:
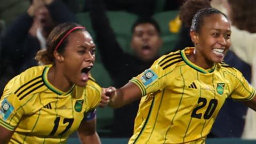
[[[256,86],[256,1],[236,0],[223,1],[231,26],[232,43],[230,50],[239,58],[252,66],[252,85]],[[242,138],[256,139],[256,113],[252,109],[247,110],[245,127]]]

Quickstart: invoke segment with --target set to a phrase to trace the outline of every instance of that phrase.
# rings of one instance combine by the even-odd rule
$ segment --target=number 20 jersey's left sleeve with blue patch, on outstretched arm
[[[164,89],[167,83],[172,81],[172,75],[159,66],[159,60],[161,59],[156,60],[149,69],[130,80],[140,88],[142,97]]]

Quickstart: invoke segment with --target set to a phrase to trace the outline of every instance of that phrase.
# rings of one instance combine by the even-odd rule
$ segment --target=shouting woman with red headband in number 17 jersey
[[[6,85],[0,100],[0,141],[62,143],[78,130],[82,143],[100,143],[95,108],[101,87],[90,76],[95,44],[84,27],[63,23],[32,67]]]

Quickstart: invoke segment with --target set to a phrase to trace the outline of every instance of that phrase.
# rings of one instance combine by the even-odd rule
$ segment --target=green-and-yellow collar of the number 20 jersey
[[[188,66],[190,66],[191,68],[203,73],[203,74],[209,74],[212,73],[216,67],[216,65],[214,65],[212,68],[210,69],[204,69],[201,68],[197,65],[195,65],[195,63],[191,62],[188,58],[186,54],[192,53],[195,50],[195,47],[186,47],[186,49],[180,51],[181,57],[182,59],[185,61],[185,63],[187,63]]]

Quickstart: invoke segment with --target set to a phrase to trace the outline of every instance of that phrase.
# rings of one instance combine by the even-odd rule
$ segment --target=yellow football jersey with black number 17
[[[0,125],[14,131],[10,143],[65,143],[82,119],[94,118],[101,87],[90,78],[85,87],[62,92],[47,80],[50,67],[27,69],[6,85]]]

